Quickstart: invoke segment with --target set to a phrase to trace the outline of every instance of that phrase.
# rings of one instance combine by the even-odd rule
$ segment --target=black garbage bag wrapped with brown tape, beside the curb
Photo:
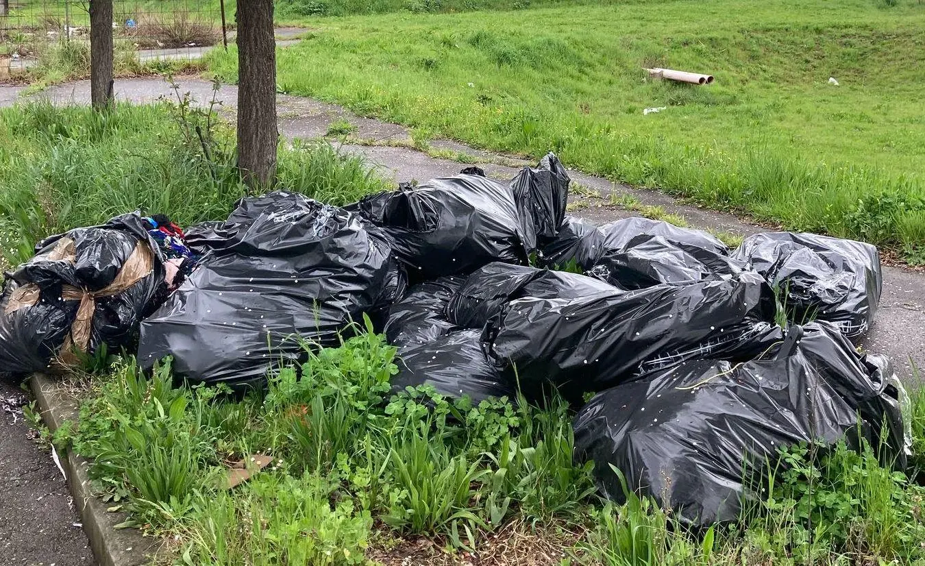
[[[4,373],[60,369],[103,346],[133,348],[142,318],[166,300],[164,256],[137,213],[52,236],[36,252],[6,274]]]

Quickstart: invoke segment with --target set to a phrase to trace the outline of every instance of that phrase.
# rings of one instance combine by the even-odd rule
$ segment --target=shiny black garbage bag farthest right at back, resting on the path
[[[780,289],[796,324],[826,320],[855,338],[873,323],[882,290],[880,253],[864,242],[768,232],[746,238],[733,257]]]

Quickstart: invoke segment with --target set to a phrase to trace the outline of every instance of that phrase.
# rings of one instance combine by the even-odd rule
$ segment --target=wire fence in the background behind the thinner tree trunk
[[[0,73],[39,65],[61,51],[89,57],[89,9],[87,0],[0,0]],[[223,19],[221,4],[210,0],[114,0],[117,60],[201,57],[227,41]]]

